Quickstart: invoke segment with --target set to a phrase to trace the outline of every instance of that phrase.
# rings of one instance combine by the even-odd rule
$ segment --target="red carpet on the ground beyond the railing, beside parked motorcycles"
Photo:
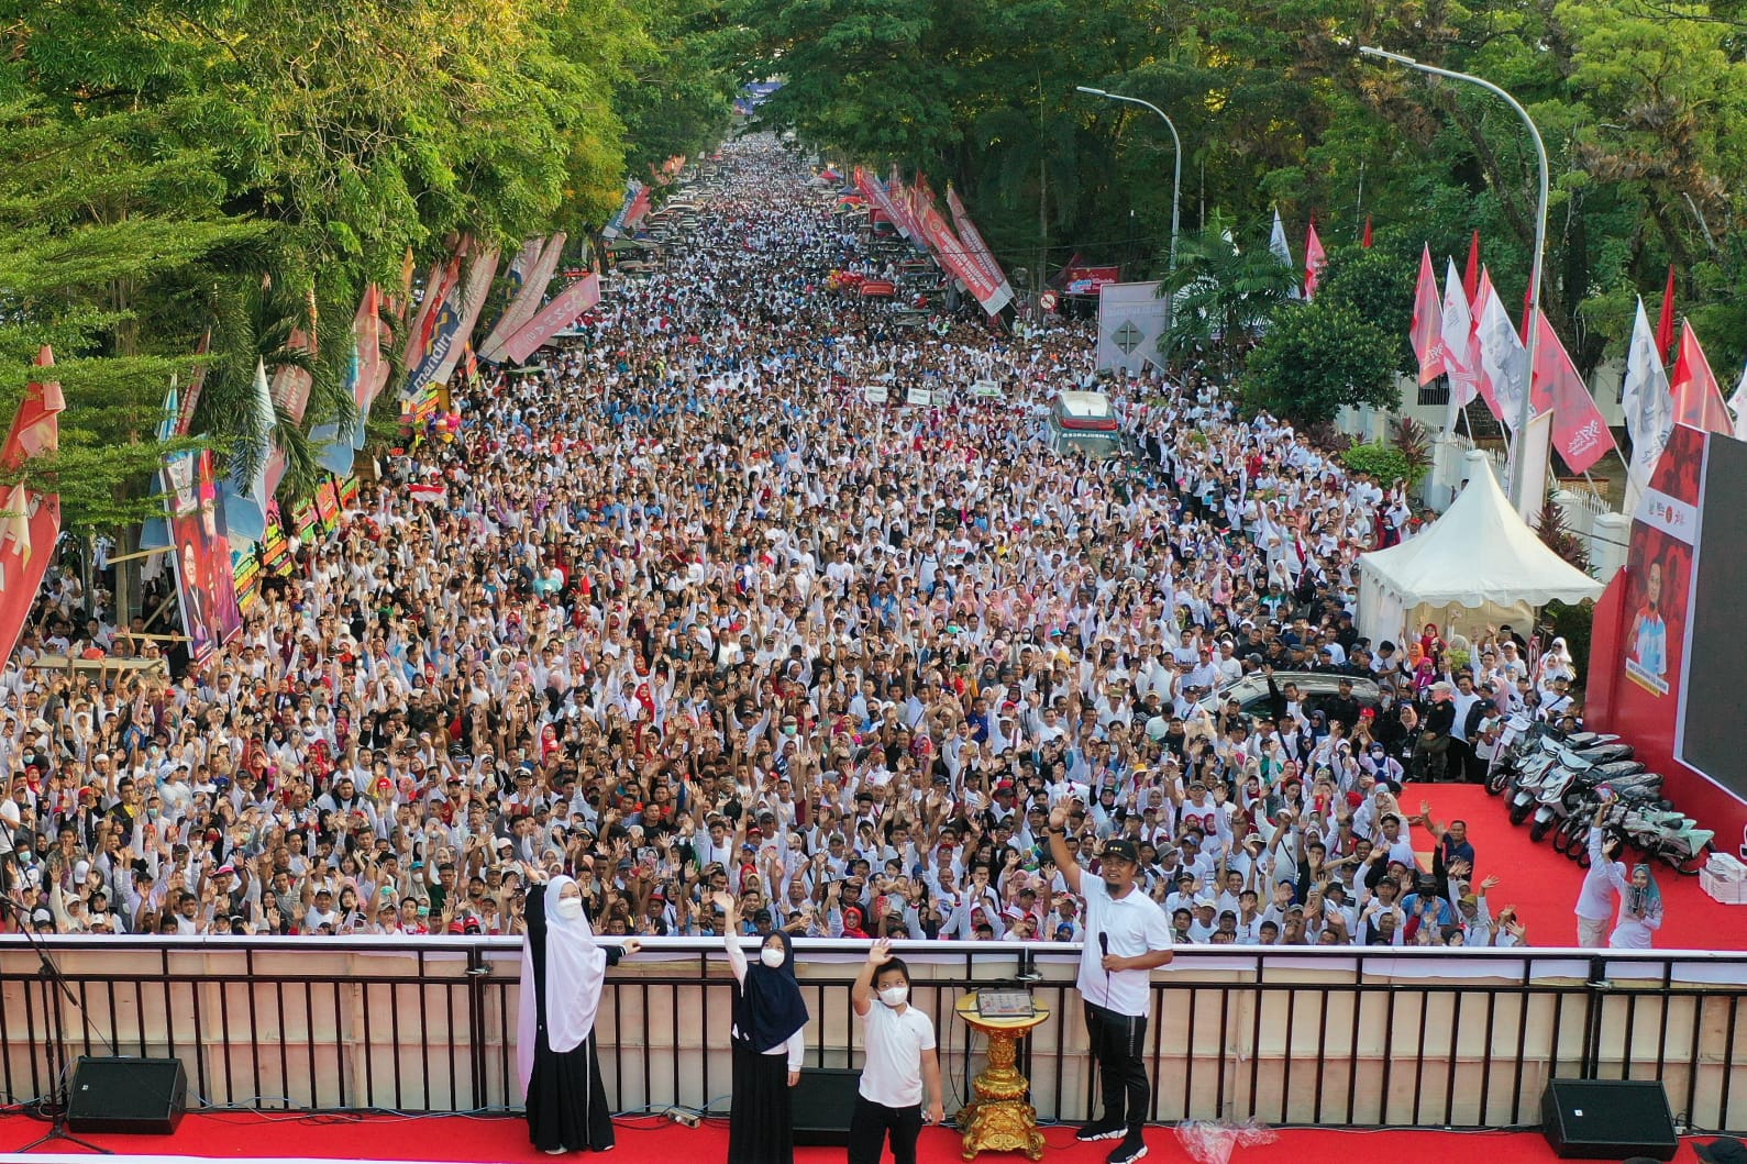
[[[1546,841],[1529,841],[1529,825],[1511,825],[1504,797],[1490,797],[1480,785],[1408,785],[1401,807],[1419,813],[1431,802],[1434,820],[1466,820],[1474,846],[1474,879],[1499,876],[1487,900],[1494,916],[1515,905],[1529,926],[1532,946],[1571,946],[1578,940],[1578,904],[1583,870]],[[1433,839],[1413,828],[1413,848],[1431,853]],[[1429,860],[1429,858],[1427,858]],[[1633,856],[1626,858],[1635,860]],[[1747,949],[1747,905],[1723,905],[1698,888],[1698,877],[1681,877],[1663,863],[1654,867],[1667,909],[1658,949]]]

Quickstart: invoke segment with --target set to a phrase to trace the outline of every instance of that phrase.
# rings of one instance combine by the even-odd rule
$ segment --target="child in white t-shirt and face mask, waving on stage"
[[[861,963],[849,1001],[863,1024],[867,1061],[849,1117],[849,1164],[879,1164],[891,1138],[896,1164],[915,1164],[922,1124],[945,1119],[935,1024],[910,1005],[910,968],[880,939]],[[928,1110],[922,1098],[933,1096]]]

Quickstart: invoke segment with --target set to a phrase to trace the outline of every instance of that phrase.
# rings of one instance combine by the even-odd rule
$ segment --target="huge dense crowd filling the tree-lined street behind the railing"
[[[1569,661],[1357,636],[1399,482],[1195,371],[1102,383],[1132,456],[1057,454],[1085,325],[844,295],[893,264],[770,138],[701,197],[535,374],[458,388],[208,666],[40,666],[155,654],[52,573],[0,676],[7,928],[519,933],[568,874],[604,933],[720,933],[728,891],[749,933],[1078,942],[1067,800],[1076,860],[1136,842],[1179,942],[1525,940],[1403,778],[1454,764],[1427,718],[1474,762],[1560,710]],[[1382,696],[1205,703],[1275,668]]]

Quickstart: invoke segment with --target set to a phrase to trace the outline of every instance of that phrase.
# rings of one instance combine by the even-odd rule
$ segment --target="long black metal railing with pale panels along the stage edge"
[[[519,1105],[514,939],[51,939],[68,1054],[176,1056],[190,1106],[501,1112]],[[854,1066],[865,946],[800,940],[809,1066]],[[1043,1119],[1092,1108],[1078,947],[915,942],[912,1003],[940,1033],[947,1106],[980,1042],[964,993],[1024,980],[1050,1017],[1022,1045]],[[617,1108],[727,1110],[720,942],[648,940],[608,973],[601,1061]],[[0,1087],[49,1091],[51,982],[0,939]],[[1679,1120],[1747,1127],[1747,956],[1572,949],[1195,947],[1153,977],[1153,1120],[1515,1127],[1546,1080],[1660,1078]],[[197,1099],[196,1099],[197,1098]]]

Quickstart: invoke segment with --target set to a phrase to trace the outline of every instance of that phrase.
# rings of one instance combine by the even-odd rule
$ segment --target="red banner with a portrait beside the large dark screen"
[[[1693,559],[1698,545],[1698,479],[1705,435],[1675,425],[1632,521],[1626,558],[1626,678],[1651,696],[1681,701],[1691,636]]]

